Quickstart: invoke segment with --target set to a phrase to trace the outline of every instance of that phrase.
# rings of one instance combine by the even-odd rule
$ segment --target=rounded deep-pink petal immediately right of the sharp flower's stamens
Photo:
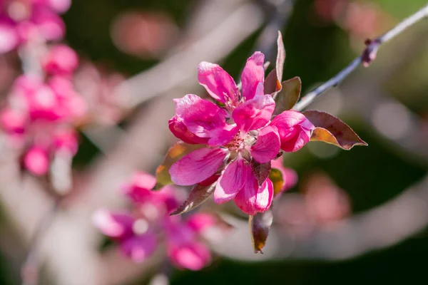
[[[255,161],[266,163],[273,160],[280,152],[280,135],[275,126],[267,126],[260,130],[257,142],[250,149]]]

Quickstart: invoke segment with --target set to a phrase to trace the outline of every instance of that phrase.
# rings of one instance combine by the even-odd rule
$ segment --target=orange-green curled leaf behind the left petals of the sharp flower
[[[185,142],[177,142],[175,145],[170,147],[166,154],[165,160],[163,160],[162,164],[159,165],[156,169],[157,183],[155,190],[158,190],[165,185],[173,184],[169,174],[171,165],[180,160],[183,156],[187,155],[189,152],[197,150],[201,147],[205,147],[205,145],[189,145]]]

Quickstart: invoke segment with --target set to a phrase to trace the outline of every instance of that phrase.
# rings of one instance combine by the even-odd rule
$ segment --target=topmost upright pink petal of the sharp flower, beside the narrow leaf
[[[262,83],[261,86],[263,87],[263,82],[265,81],[263,63],[265,63],[265,55],[260,51],[256,51],[253,56],[248,58],[247,64],[245,64],[241,81],[243,82],[243,97],[246,100],[254,98],[259,83]],[[263,89],[261,92],[263,93]]]

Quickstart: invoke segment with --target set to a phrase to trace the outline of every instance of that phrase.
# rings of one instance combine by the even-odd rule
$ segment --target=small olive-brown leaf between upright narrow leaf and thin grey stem
[[[282,89],[275,97],[275,115],[282,113],[285,110],[290,110],[300,98],[302,90],[302,81],[299,77],[294,77],[282,82]]]

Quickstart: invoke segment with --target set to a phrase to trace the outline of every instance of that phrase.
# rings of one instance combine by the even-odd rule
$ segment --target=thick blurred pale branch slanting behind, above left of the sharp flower
[[[227,1],[214,2],[230,5],[225,3]],[[215,10],[219,8],[216,7]],[[213,16],[218,18],[218,14],[213,13],[213,10],[202,11],[205,16],[199,16],[200,21],[210,21]],[[219,61],[262,24],[262,15],[253,4],[231,8],[225,15],[227,16],[220,21],[216,19],[213,23],[215,26],[207,27],[205,33],[199,32],[200,38],[189,38],[183,34],[185,42],[175,48],[161,63],[118,86],[114,92],[129,96],[126,108],[135,108],[136,105],[181,85],[189,78],[193,80],[195,66],[198,66],[200,61]],[[199,23],[193,25],[198,26]]]

